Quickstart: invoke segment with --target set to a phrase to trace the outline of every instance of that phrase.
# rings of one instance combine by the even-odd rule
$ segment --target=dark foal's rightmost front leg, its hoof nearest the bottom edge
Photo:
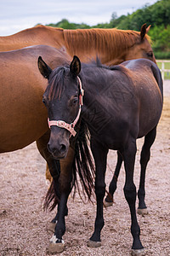
[[[128,206],[131,212],[131,233],[133,236],[133,252],[142,252],[144,247],[139,239],[140,228],[137,221],[136,216],[136,187],[133,183],[133,172],[134,172],[134,161],[136,155],[136,140],[131,138],[127,143],[127,147],[124,148],[123,156],[124,156],[124,165],[126,172],[126,181],[124,186],[124,195],[127,200]]]

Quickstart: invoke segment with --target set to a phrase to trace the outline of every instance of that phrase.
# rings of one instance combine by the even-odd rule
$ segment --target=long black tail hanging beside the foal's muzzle
[[[75,158],[72,171],[72,187],[74,187],[73,195],[75,195],[77,189],[81,198],[82,192],[85,197],[88,195],[88,200],[90,200],[91,195],[94,195],[95,166],[89,147],[88,125],[83,121],[83,119],[81,120],[80,130],[78,131],[77,141],[75,143]],[[82,185],[82,190],[78,184],[77,174]]]

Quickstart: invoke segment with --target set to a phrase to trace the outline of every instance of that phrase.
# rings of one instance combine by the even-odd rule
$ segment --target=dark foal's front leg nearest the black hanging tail
[[[108,149],[93,140],[91,140],[91,148],[96,166],[95,195],[97,213],[94,224],[94,234],[88,241],[88,247],[99,247],[101,245],[100,232],[104,226],[103,200],[105,196],[105,170]]]

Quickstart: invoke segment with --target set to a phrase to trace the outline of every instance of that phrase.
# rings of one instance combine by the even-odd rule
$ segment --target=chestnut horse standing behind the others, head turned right
[[[0,51],[20,49],[30,45],[46,44],[57,49],[65,47],[81,61],[99,56],[107,65],[119,64],[131,59],[146,58],[155,61],[150,38],[144,24],[141,32],[118,29],[77,29],[64,30],[50,26],[35,26],[8,37],[0,37]]]

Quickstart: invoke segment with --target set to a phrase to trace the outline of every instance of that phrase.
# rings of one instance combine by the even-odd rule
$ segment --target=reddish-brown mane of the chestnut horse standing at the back
[[[111,59],[121,55],[122,51],[133,47],[134,44],[140,44],[140,32],[132,30],[112,29],[77,29],[64,30],[65,47],[70,53],[78,55],[79,52],[87,54],[90,52],[105,52],[105,55],[111,56]],[[150,42],[150,37],[145,35]]]

